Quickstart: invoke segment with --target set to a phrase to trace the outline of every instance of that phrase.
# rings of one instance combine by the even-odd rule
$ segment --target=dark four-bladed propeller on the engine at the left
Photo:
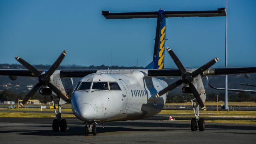
[[[66,51],[64,50],[60,54],[58,59],[54,62],[54,64],[50,67],[50,69],[48,71],[46,71],[46,73],[44,73],[44,74],[39,72],[36,68],[34,68],[34,66],[29,64],[22,58],[20,58],[18,56],[15,57],[15,59],[18,60],[18,62],[20,62],[20,64],[22,64],[25,68],[27,68],[30,72],[32,72],[32,75],[38,77],[38,83],[30,90],[30,92],[28,92],[28,94],[25,96],[25,98],[20,103],[20,106],[24,106],[24,104],[26,104],[26,102],[28,102],[28,100],[30,100],[30,98],[32,98],[32,96],[36,93],[36,91],[41,86],[48,86],[55,94],[57,94],[58,97],[62,98],[66,102],[69,102],[69,98],[50,82],[51,81],[50,76],[52,76],[54,71],[58,68],[58,66],[60,65],[60,63],[62,62],[62,60],[65,56],[66,56]]]

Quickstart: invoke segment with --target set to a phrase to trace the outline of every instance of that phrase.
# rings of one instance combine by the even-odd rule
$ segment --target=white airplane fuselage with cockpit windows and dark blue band
[[[88,88],[82,90],[82,83]],[[94,86],[105,84],[107,89]],[[112,84],[115,88],[112,88]],[[168,85],[158,78],[147,77],[142,71],[124,73],[94,73],[80,80],[72,93],[72,111],[87,122],[135,120],[158,114],[167,94],[156,98],[156,93]],[[79,87],[81,87],[79,89]]]

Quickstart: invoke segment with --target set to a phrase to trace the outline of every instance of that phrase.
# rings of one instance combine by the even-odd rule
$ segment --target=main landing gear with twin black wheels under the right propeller
[[[194,111],[194,115],[196,118],[192,118],[191,119],[191,131],[196,131],[197,127],[199,128],[199,131],[204,131],[204,118],[199,118],[199,105],[196,102],[196,106],[194,106],[194,100],[196,100],[195,98],[191,99],[191,103],[192,103],[192,107],[193,107],[193,111]]]

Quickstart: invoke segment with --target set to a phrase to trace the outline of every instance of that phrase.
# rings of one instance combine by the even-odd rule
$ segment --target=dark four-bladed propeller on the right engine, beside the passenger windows
[[[191,92],[193,93],[194,97],[196,98],[196,101],[198,102],[198,104],[201,106],[202,110],[206,110],[206,106],[205,106],[202,98],[200,97],[200,94],[198,93],[196,87],[194,86],[194,84],[192,82],[194,80],[194,77],[198,76],[199,74],[204,72],[204,70],[207,70],[212,65],[214,65],[216,62],[218,62],[219,58],[214,58],[214,59],[210,60],[209,62],[207,62],[200,68],[196,69],[194,72],[190,73],[190,72],[186,71],[186,69],[184,68],[184,66],[182,65],[182,63],[180,62],[180,60],[178,59],[176,54],[174,54],[172,49],[166,48],[166,50],[172,57],[172,60],[174,61],[174,63],[176,64],[176,66],[178,67],[178,69],[180,70],[182,75],[181,75],[180,80],[177,80],[176,82],[172,83],[171,85],[169,85],[166,88],[164,88],[163,90],[161,90],[158,94],[156,94],[156,97],[160,97],[161,95],[173,90],[174,88],[180,86],[183,83],[188,84]]]

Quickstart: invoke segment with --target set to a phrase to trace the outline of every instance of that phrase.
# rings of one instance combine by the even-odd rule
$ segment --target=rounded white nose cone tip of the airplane
[[[91,104],[80,104],[80,106],[78,106],[78,115],[80,115],[82,120],[94,119],[94,107]]]

